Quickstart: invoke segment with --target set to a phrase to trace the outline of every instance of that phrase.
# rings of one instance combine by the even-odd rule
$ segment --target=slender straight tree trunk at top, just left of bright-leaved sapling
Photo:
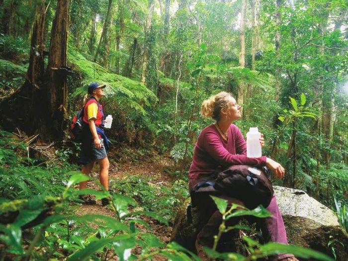
[[[279,62],[280,62],[280,26],[281,26],[281,13],[280,13],[280,7],[281,7],[282,0],[275,0],[275,55],[276,55],[276,61],[277,65],[275,67],[275,90],[274,90],[274,99],[279,99],[280,94],[280,68],[279,68]]]

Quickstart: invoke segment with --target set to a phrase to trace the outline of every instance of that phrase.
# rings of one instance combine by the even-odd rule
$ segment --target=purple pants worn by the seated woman
[[[203,228],[197,235],[197,241],[202,246],[212,247],[214,243],[213,237],[217,235],[219,231],[219,226],[222,222],[222,215],[217,210],[214,201],[211,199],[209,195],[218,196],[220,198],[226,199],[228,204],[236,203],[239,205],[244,205],[242,201],[224,196],[216,193],[195,193],[194,202],[197,206],[198,211],[200,212],[200,216],[203,217],[202,220]],[[269,206],[266,208],[271,214],[271,217],[265,219],[257,219],[257,223],[261,228],[262,235],[265,241],[268,242],[276,242],[281,244],[288,244],[286,239],[286,231],[284,227],[283,218],[279,212],[278,204],[275,196],[273,195]],[[240,218],[231,218],[226,221],[227,226],[236,225],[239,222]],[[227,234],[227,233],[226,233]],[[223,239],[223,237],[222,237]],[[280,254],[277,256],[278,260],[282,260],[288,257],[293,257],[291,254]]]

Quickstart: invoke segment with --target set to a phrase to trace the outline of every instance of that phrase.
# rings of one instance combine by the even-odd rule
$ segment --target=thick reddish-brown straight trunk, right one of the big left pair
[[[56,14],[52,23],[50,54],[48,58],[48,94],[49,113],[52,115],[50,125],[55,139],[63,138],[65,129],[65,112],[68,97],[66,74],[56,70],[67,65],[69,26],[69,0],[58,0]]]

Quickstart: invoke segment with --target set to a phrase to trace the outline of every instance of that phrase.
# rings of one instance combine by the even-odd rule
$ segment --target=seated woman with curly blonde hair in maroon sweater
[[[241,106],[228,92],[220,92],[202,103],[202,115],[216,120],[214,124],[207,126],[200,133],[189,170],[189,190],[192,204],[197,206],[201,217],[206,217],[206,220],[203,221],[205,225],[196,240],[197,255],[203,261],[209,259],[202,246],[210,248],[213,246],[213,236],[217,235],[222,221],[221,213],[209,195],[214,193],[214,196],[228,200],[229,204],[243,205],[243,202],[219,192],[197,192],[197,184],[209,178],[217,170],[223,170],[232,165],[266,166],[277,177],[281,178],[284,175],[284,168],[279,163],[265,156],[260,158],[246,156],[247,146],[243,135],[240,129],[232,124],[233,121],[242,117],[240,109]],[[260,142],[263,146],[263,135],[261,137]],[[264,219],[263,224],[261,224],[265,240],[287,244],[285,227],[275,196],[272,197],[266,209],[272,214],[272,217]],[[238,220],[230,219],[229,222],[228,225],[233,225]],[[278,255],[275,260],[297,261],[290,254]]]

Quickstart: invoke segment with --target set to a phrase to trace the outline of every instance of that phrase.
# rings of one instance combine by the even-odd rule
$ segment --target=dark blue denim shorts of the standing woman
[[[101,160],[107,158],[103,139],[99,138],[101,142],[101,148],[97,149],[94,146],[93,139],[86,139],[81,144],[80,152],[80,164],[86,165],[95,160]]]

